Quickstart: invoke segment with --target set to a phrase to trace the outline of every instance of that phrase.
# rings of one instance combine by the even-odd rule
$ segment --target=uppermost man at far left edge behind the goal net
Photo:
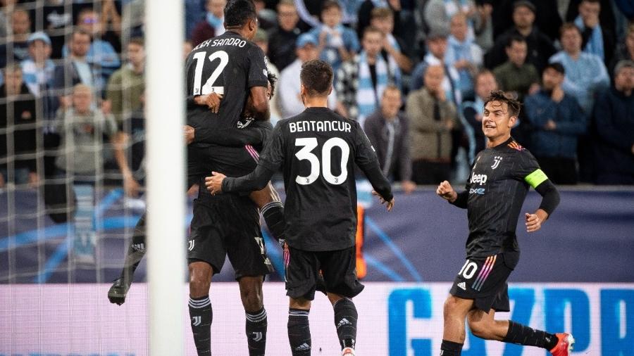
[[[6,44],[0,45],[0,68],[12,62],[20,63],[29,56],[28,39],[31,32],[29,13],[21,8],[15,8],[11,13],[10,22],[11,34],[8,34]]]

